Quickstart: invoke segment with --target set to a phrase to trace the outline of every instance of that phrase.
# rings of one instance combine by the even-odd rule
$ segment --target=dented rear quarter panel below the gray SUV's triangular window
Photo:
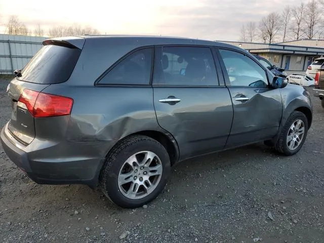
[[[45,92],[73,99],[66,130],[69,142],[117,142],[141,131],[164,132],[157,124],[152,87],[69,87],[60,84],[51,85]]]

